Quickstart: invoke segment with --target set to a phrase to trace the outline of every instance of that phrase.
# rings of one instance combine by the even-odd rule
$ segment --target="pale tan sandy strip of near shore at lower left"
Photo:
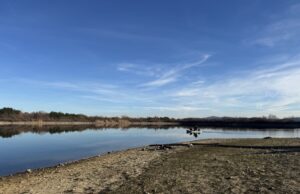
[[[160,152],[132,149],[0,178],[1,194],[99,193],[142,173]]]

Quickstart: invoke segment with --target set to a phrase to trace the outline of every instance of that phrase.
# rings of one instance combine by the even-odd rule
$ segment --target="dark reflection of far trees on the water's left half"
[[[0,126],[0,137],[10,138],[21,133],[36,133],[36,134],[59,134],[68,132],[80,132],[85,130],[108,130],[116,129],[126,131],[132,128],[143,128],[151,130],[162,130],[174,128],[174,126],[130,126],[130,127],[98,127],[95,125],[64,125],[64,126],[30,126],[30,125],[15,125],[15,126]]]

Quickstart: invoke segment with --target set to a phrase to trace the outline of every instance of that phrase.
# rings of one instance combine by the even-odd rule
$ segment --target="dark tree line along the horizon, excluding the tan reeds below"
[[[178,123],[180,126],[207,126],[207,127],[300,127],[300,118],[290,117],[279,119],[275,115],[267,117],[206,117],[175,119],[169,117],[102,117],[87,116],[63,112],[22,112],[13,108],[0,109],[0,121],[60,121],[60,122],[99,122],[101,123]]]

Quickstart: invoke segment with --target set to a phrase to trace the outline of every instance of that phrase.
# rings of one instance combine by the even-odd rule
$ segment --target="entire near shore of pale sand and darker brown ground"
[[[300,146],[300,139],[201,143]],[[0,193],[300,193],[300,153],[204,145],[136,148],[2,177]]]

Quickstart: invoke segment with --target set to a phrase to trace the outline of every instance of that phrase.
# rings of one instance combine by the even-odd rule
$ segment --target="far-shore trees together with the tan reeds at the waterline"
[[[300,118],[268,117],[101,117],[62,112],[22,112],[13,108],[0,109],[0,125],[96,125],[98,127],[181,126],[231,128],[299,128]]]

